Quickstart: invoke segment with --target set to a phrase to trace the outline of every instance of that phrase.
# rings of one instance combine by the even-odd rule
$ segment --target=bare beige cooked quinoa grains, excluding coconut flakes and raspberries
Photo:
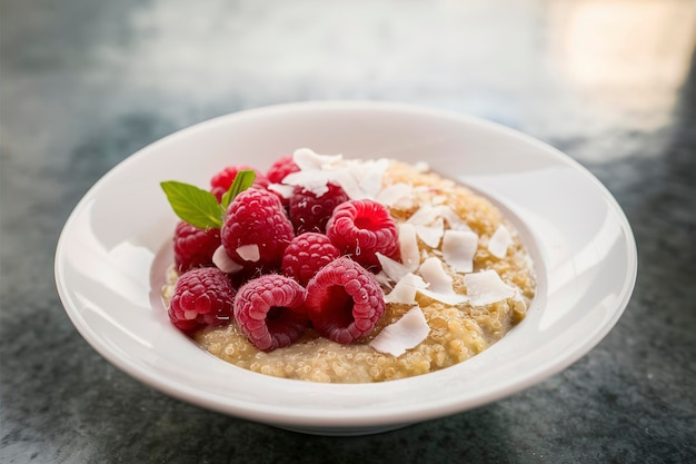
[[[493,204],[466,187],[434,172],[421,172],[410,165],[390,161],[382,185],[401,182],[412,186],[412,200],[389,208],[397,224],[407,220],[421,205],[448,206],[478,235],[474,272],[496,270],[505,284],[515,288],[513,297],[473,307],[467,303],[450,306],[418,293],[416,300],[430,332],[420,344],[398,357],[377,352],[369,342],[409,310],[412,305],[408,304],[387,304],[385,315],[371,334],[352,345],[339,345],[309,329],[291,346],[265,353],[257,349],[235,323],[195,334],[196,343],[228,363],[266,375],[310,382],[366,383],[443,369],[499,340],[525,318],[535,295],[531,259],[514,227]],[[513,236],[504,258],[497,258],[488,250],[488,241],[500,225]],[[420,240],[418,245],[421,261],[428,257],[443,258],[441,245],[431,248]],[[466,294],[464,275],[446,269],[453,278],[455,292]],[[166,299],[175,282],[176,275],[169,275],[169,286],[163,290]],[[389,288],[385,290],[388,293]]]

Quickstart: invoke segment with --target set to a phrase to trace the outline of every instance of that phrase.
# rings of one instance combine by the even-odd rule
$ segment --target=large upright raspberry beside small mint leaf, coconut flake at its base
[[[280,267],[295,233],[278,197],[250,188],[230,203],[220,237],[230,258],[248,269],[270,272]]]

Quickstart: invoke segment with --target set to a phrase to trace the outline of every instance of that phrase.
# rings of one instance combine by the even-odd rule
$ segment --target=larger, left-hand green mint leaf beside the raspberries
[[[180,219],[201,229],[222,227],[225,209],[210,191],[176,180],[160,182],[160,186]]]

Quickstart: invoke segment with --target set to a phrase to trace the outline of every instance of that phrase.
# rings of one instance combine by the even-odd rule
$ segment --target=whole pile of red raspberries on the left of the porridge
[[[295,186],[281,198],[268,187],[299,170],[289,156],[265,174],[226,167],[210,181],[218,201],[242,170],[256,179],[223,208],[221,227],[177,225],[172,323],[192,333],[233,320],[261,351],[288,346],[308,328],[340,344],[368,335],[385,312],[377,254],[399,258],[386,207],[350,199],[336,184],[322,195]],[[219,267],[232,272],[213,264],[220,253],[233,266]]]

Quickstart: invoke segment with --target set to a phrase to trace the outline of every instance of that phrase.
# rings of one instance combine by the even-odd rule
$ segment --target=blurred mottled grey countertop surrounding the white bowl
[[[696,462],[696,2],[1,0],[0,461]],[[389,100],[561,149],[616,197],[639,273],[566,371],[441,419],[308,436],[156,392],[58,298],[80,197],[139,148],[219,115]]]

